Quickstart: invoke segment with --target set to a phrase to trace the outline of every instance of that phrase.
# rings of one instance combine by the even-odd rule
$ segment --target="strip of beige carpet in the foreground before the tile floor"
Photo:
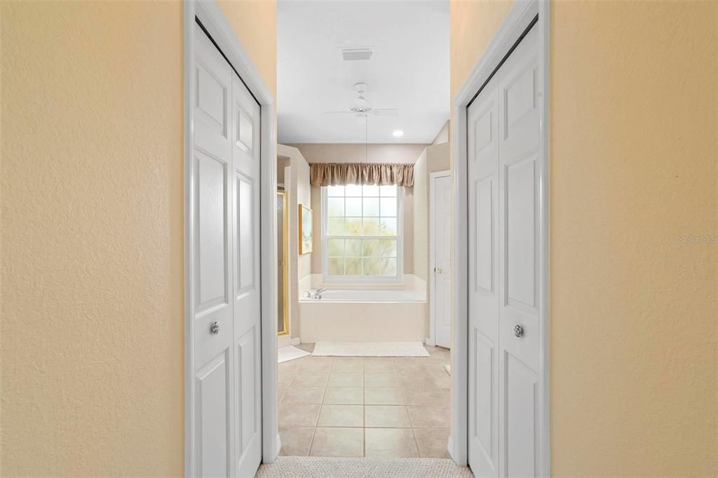
[[[256,478],[473,478],[451,459],[320,458],[280,456],[259,467]]]

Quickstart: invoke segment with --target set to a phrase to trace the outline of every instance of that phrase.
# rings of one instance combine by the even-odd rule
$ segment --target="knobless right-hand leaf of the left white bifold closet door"
[[[259,287],[259,105],[233,75],[233,248],[235,449],[237,476],[253,477],[261,461]]]

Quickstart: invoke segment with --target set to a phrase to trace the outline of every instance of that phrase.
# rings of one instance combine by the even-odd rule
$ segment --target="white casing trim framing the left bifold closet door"
[[[256,65],[237,38],[227,18],[214,0],[184,0],[182,2],[182,29],[184,39],[184,133],[185,133],[185,476],[194,476],[195,456],[192,456],[194,438],[194,323],[192,286],[195,263],[192,250],[194,240],[192,151],[195,148],[194,111],[192,91],[196,79],[195,17],[228,58],[247,89],[260,106],[260,273],[261,273],[261,403],[262,403],[262,461],[271,463],[279,454],[279,434],[276,418],[276,106],[274,96],[261,77]],[[264,218],[264,220],[262,220]]]

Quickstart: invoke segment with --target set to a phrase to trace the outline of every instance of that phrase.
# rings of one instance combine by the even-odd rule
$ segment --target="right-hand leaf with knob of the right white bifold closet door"
[[[499,306],[501,476],[538,470],[538,28],[499,72]]]

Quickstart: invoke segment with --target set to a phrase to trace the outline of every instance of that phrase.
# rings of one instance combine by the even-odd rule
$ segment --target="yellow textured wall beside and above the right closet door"
[[[505,14],[452,1],[452,98]],[[713,476],[717,2],[551,12],[551,464]]]

